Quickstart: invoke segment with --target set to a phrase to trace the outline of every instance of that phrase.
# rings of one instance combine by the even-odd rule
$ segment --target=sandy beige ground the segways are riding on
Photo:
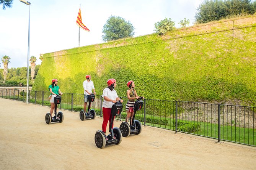
[[[47,125],[49,107],[0,98],[0,169],[255,169],[256,148],[154,127],[96,147],[103,118],[81,121],[62,111],[64,121]],[[121,122],[115,121],[114,127]]]

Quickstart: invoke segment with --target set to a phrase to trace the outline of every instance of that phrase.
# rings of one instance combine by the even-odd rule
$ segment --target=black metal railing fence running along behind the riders
[[[0,89],[0,97],[18,101],[26,101],[26,90]],[[29,103],[50,106],[49,91],[29,90]],[[125,120],[125,105],[121,116],[116,120]],[[64,93],[60,109],[80,112],[83,109],[84,94]],[[96,115],[103,116],[103,98],[95,95],[91,109]],[[88,105],[87,105],[88,109]],[[256,146],[256,107],[228,104],[198,103],[188,101],[170,101],[160,99],[144,99],[144,108],[136,112],[136,120],[144,126],[165,128],[175,132],[214,138],[220,141]],[[254,133],[255,132],[255,133]]]

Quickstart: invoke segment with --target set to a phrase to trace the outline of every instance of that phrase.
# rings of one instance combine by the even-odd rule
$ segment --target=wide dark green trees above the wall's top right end
[[[240,14],[254,14],[256,8],[251,0],[205,0],[196,10],[195,21],[207,23]]]

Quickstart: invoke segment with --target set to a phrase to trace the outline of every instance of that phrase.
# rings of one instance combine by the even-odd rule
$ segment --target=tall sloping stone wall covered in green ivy
[[[96,93],[110,78],[126,96],[134,80],[150,99],[256,104],[256,16],[43,54],[33,90],[59,79],[62,92],[83,93],[90,74]]]

